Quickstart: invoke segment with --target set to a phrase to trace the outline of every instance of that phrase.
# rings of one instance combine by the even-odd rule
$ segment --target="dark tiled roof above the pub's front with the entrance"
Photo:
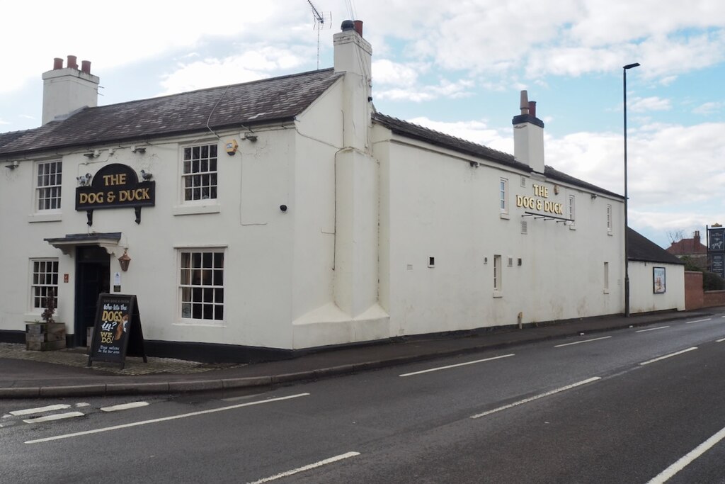
[[[150,139],[291,120],[341,77],[333,69],[138,101],[87,107],[69,118],[0,134],[0,156]]]

